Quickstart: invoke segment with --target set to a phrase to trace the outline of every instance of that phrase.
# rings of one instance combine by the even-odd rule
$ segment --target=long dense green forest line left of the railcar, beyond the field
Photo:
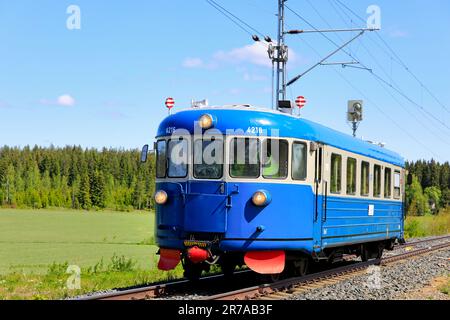
[[[0,148],[0,205],[18,208],[150,209],[153,157],[138,150]]]

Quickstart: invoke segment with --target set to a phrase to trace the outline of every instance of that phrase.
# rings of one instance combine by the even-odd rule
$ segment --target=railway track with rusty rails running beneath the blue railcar
[[[238,289],[234,288],[227,292],[212,293],[209,292],[206,296],[203,296],[201,300],[279,300],[285,298],[292,293],[298,293],[304,290],[313,289],[322,285],[331,284],[342,281],[348,277],[353,277],[358,273],[365,272],[365,270],[371,265],[388,265],[397,261],[405,260],[414,256],[422,255],[431,251],[440,250],[446,247],[450,247],[450,241],[441,243],[426,248],[415,249],[418,244],[424,244],[428,242],[434,242],[439,240],[450,240],[450,235],[435,237],[430,239],[418,240],[409,242],[404,245],[397,246],[395,250],[401,248],[410,248],[401,254],[392,255],[379,260],[372,260],[367,262],[352,263],[342,267],[306,275],[303,277],[289,278],[274,283],[250,285],[243,287],[245,284],[249,284],[251,281],[260,283],[256,278],[252,278],[255,274],[250,270],[237,271],[233,276],[233,281],[227,281],[222,274],[211,275],[200,278],[200,280],[193,285],[188,280],[176,280],[170,282],[164,282],[159,284],[152,284],[148,286],[142,286],[132,289],[118,289],[117,291],[101,294],[91,294],[77,298],[77,300],[149,300],[158,298],[170,298],[171,296],[182,297],[186,292],[198,291],[211,291],[211,288],[218,290],[217,288],[230,289],[233,287],[233,283]],[[220,290],[220,289],[219,289]],[[203,294],[202,294],[203,295]]]

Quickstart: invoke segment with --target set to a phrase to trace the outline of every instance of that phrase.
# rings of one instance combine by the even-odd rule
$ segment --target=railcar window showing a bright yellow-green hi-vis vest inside
[[[263,177],[266,179],[286,179],[289,143],[286,140],[266,139],[263,141],[262,147]]]

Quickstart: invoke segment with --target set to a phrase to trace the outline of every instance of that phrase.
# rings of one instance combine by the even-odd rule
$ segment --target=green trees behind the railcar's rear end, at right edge
[[[437,214],[450,205],[450,164],[435,160],[407,162],[411,178],[406,186],[407,214]]]

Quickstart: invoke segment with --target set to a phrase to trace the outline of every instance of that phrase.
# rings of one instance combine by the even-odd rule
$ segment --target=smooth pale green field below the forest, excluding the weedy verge
[[[52,263],[80,267],[115,254],[154,268],[151,213],[0,210],[0,274],[45,273]]]

